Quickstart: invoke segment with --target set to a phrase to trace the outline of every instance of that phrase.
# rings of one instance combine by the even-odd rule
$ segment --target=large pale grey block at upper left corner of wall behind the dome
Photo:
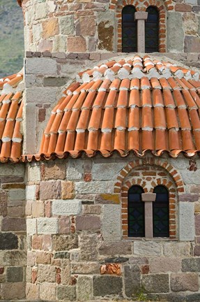
[[[57,73],[56,61],[49,58],[26,58],[26,73],[54,75]]]

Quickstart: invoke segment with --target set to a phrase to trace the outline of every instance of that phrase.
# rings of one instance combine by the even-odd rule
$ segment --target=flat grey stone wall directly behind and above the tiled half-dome
[[[153,54],[174,59],[187,66],[200,67],[200,53]],[[26,52],[24,107],[24,154],[36,154],[52,109],[62,96],[62,88],[75,80],[77,73],[108,59],[120,60],[123,53]],[[132,54],[134,56],[134,54]]]

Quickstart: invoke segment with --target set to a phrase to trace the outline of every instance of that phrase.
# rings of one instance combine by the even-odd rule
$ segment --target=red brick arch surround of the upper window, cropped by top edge
[[[166,29],[166,10],[173,10],[174,5],[171,0],[162,1],[159,0],[146,0],[144,2],[134,1],[134,0],[122,0],[121,3],[118,3],[117,0],[111,0],[109,8],[116,10],[116,20],[117,20],[117,32],[118,32],[118,41],[117,41],[117,51],[121,52],[122,50],[122,10],[124,6],[132,5],[136,8],[137,11],[146,11],[148,6],[155,6],[159,11],[159,52],[166,52],[167,45],[167,29]]]

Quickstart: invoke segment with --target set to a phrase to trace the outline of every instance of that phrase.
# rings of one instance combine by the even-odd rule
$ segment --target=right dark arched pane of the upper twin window
[[[148,18],[145,22],[145,52],[158,52],[159,13],[155,6],[146,9]]]

